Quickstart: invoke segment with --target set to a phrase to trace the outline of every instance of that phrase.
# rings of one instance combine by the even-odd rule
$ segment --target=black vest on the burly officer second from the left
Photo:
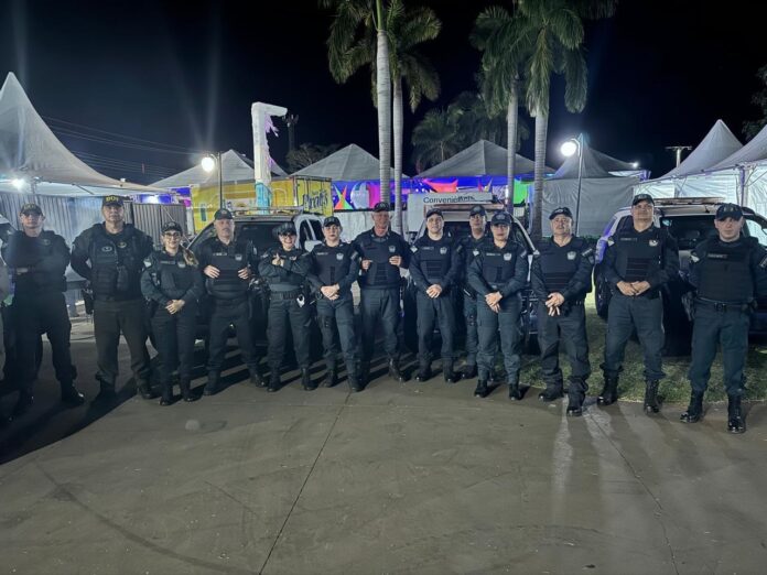
[[[96,295],[120,295],[131,288],[137,290],[141,254],[138,237],[126,226],[115,239],[104,230],[104,225],[94,226],[90,241],[91,286]]]

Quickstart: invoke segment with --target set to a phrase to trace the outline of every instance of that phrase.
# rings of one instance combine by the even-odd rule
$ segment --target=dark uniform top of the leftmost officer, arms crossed
[[[43,230],[37,237],[17,231],[8,240],[6,262],[14,269],[17,295],[66,291],[69,248],[53,231]]]

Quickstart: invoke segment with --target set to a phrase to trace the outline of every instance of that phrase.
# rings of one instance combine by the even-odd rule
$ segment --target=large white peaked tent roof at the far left
[[[162,192],[139,184],[130,184],[99,174],[76,158],[54,135],[26,97],[19,80],[9,73],[0,88],[0,178],[20,175],[37,182],[100,186],[110,193]],[[45,194],[45,186],[37,185]]]

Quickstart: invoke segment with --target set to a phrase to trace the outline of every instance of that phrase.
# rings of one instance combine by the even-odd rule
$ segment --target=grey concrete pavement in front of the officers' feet
[[[170,408],[126,388],[111,411],[61,411],[41,383],[2,430],[0,572],[765,573],[763,403],[736,436],[724,405],[688,426],[683,405],[648,417],[591,398],[568,419],[534,389],[474,399],[474,381],[381,376],[349,394],[245,379],[234,367],[222,393]]]

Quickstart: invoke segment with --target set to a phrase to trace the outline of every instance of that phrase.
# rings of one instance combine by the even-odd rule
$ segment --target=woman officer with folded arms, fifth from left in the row
[[[295,226],[285,221],[277,228],[279,247],[269,248],[258,263],[258,271],[269,283],[269,379],[268,391],[280,390],[280,366],[290,326],[293,335],[295,359],[301,369],[304,390],[317,389],[309,373],[309,327],[312,322],[309,302],[304,293],[310,262],[306,252],[296,246]]]

